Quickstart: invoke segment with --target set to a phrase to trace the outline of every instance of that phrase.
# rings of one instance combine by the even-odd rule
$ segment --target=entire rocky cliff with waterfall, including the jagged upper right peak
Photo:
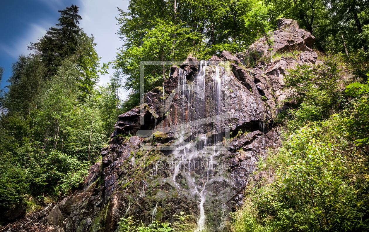
[[[278,28],[272,52],[295,57],[270,63],[261,38],[234,56],[223,51],[209,61],[188,57],[173,66],[162,87],[119,115],[86,189],[45,210],[37,222],[7,231],[41,223],[58,232],[113,232],[128,215],[149,224],[173,222],[180,212],[193,215],[197,231],[221,231],[232,207],[242,204],[236,193],[248,184],[255,162],[280,146],[272,118],[289,104],[283,76],[317,62],[310,33],[290,19],[279,19]],[[126,140],[121,135],[127,133],[134,136]]]

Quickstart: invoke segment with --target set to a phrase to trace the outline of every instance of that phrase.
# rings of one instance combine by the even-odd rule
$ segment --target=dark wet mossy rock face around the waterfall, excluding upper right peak
[[[214,60],[217,61],[215,58]],[[261,129],[259,122],[267,117],[266,104],[261,100],[257,86],[248,72],[240,70],[236,65],[234,70],[239,71],[236,78],[231,70],[209,64],[202,67],[203,79],[198,78],[191,82],[186,79],[186,67],[188,65],[184,69],[173,67],[171,76],[179,83],[187,83],[186,86],[191,83],[200,85],[203,80],[205,84],[202,85],[202,100],[196,97],[195,101],[190,100],[186,95],[187,90],[182,93],[174,92],[172,96],[168,94],[164,99],[173,98],[168,114],[164,114],[159,124],[155,126],[151,123],[147,128],[160,129],[164,123],[172,125],[174,122],[175,125],[182,125],[185,120],[211,118],[230,112],[231,117],[222,123],[230,125],[228,127],[231,130],[242,126]],[[199,67],[199,70],[202,69]],[[239,80],[249,83],[250,89]],[[173,82],[168,79],[164,88],[173,88],[170,85]],[[148,100],[144,103],[147,108],[145,112],[151,112],[151,115],[163,114],[160,110],[165,103],[154,100],[158,93],[160,92],[153,90],[145,96],[145,100]],[[228,105],[223,101],[227,96]],[[197,107],[196,104],[203,105]],[[209,109],[206,110],[206,107]],[[214,107],[218,111],[214,111]],[[137,108],[120,115],[116,124],[117,131],[136,126],[135,129],[131,128],[132,132],[147,126],[139,124],[139,107]],[[194,114],[183,114],[184,109],[194,110]],[[168,117],[172,119],[168,120]],[[268,147],[279,145],[277,133],[263,133],[262,129],[232,140],[214,137],[223,132],[220,125],[224,124],[216,121],[192,126],[189,135],[192,134],[193,139],[188,136],[190,141],[187,144],[192,144],[197,149],[194,151],[183,147],[187,146],[184,145],[186,143],[179,142],[170,130],[165,133],[155,132],[148,138],[132,136],[128,140],[117,137],[118,133],[115,132],[109,146],[102,151],[102,173],[99,179],[89,188],[66,197],[56,205],[47,216],[47,225],[53,227],[54,231],[113,232],[117,229],[120,218],[128,215],[148,225],[152,220],[173,222],[174,215],[181,212],[193,215],[196,224],[202,217],[200,208],[203,207],[205,226],[221,231],[232,204],[241,204],[242,197],[237,196],[234,200],[236,203],[225,203],[248,182],[258,155],[265,156]],[[227,146],[229,143],[230,149],[210,147],[215,142],[219,146]],[[163,143],[172,146],[172,150],[162,150]],[[244,152],[239,151],[241,147]],[[93,172],[97,173],[98,167],[99,164],[94,165],[89,176],[93,176]]]

